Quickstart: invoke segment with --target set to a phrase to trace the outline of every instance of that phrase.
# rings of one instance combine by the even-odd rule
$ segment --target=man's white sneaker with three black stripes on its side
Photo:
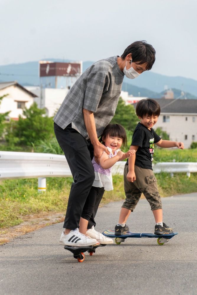
[[[79,229],[71,230],[68,235],[61,234],[59,243],[66,246],[83,247],[99,244],[96,239],[92,239],[79,232]]]

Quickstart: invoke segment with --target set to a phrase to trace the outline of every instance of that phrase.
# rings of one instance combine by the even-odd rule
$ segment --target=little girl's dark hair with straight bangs
[[[127,144],[126,131],[125,131],[124,127],[121,126],[120,124],[108,124],[105,127],[105,129],[103,130],[99,141],[104,143],[102,138],[105,139],[108,136],[108,134],[112,137],[116,136],[116,137],[122,138],[123,147]]]

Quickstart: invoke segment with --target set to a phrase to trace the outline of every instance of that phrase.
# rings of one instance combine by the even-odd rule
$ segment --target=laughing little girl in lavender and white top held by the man
[[[100,244],[110,244],[113,243],[112,239],[95,231],[94,227],[96,223],[94,218],[105,190],[113,190],[111,175],[112,166],[117,161],[124,160],[130,155],[134,155],[135,150],[128,150],[127,153],[120,150],[122,145],[126,145],[127,139],[124,128],[119,124],[107,125],[101,135],[100,142],[107,147],[110,154],[108,155],[103,152],[100,157],[99,165],[95,162],[95,158],[92,159],[95,170],[95,181],[84,204],[79,228],[81,233],[96,239]]]

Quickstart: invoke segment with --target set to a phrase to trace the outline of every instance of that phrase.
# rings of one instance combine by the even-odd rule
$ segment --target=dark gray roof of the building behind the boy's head
[[[154,99],[160,107],[161,113],[191,113],[197,114],[197,99]],[[133,106],[136,108],[136,103]]]

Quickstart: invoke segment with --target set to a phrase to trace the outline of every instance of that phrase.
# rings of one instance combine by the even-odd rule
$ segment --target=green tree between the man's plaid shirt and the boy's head
[[[139,119],[136,116],[134,107],[131,104],[126,106],[125,102],[120,97],[115,115],[110,123],[121,124],[125,129],[133,132],[138,122]]]

